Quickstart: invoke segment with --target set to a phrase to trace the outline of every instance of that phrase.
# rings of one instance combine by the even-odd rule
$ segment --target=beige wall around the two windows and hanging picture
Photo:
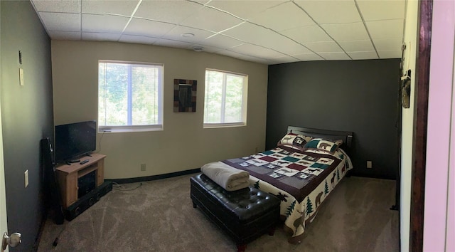
[[[164,63],[164,130],[99,133],[97,151],[107,155],[106,179],[196,169],[264,149],[267,65],[160,46],[52,41],[55,125],[97,119],[98,60]],[[248,75],[247,126],[203,129],[205,68]],[[196,112],[173,112],[174,78],[198,81]]]

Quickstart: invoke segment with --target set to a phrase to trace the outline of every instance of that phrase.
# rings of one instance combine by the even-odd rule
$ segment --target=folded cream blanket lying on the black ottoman
[[[204,164],[203,167],[200,167],[200,171],[226,191],[236,191],[250,185],[249,172],[230,167],[223,162]]]

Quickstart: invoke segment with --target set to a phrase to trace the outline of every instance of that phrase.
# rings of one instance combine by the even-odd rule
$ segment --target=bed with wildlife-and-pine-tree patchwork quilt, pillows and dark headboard
[[[249,172],[250,185],[281,200],[280,217],[289,242],[300,243],[319,206],[353,168],[352,142],[353,132],[289,126],[274,149],[203,168],[223,165]]]

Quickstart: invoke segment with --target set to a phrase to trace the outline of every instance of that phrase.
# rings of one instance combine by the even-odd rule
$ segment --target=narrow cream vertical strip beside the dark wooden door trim
[[[405,36],[405,69],[411,69],[410,108],[402,109],[402,149],[400,183],[400,239],[401,251],[410,249],[410,210],[411,210],[411,175],[412,175],[412,135],[414,130],[414,91],[416,85],[417,58],[417,14],[419,4],[415,0],[407,1]]]

